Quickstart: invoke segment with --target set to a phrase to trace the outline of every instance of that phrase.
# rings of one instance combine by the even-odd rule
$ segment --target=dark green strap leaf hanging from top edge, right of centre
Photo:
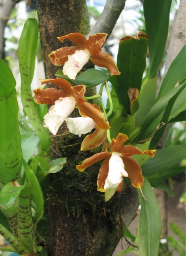
[[[144,17],[150,54],[148,79],[153,79],[158,72],[168,36],[171,0],[144,1]]]

